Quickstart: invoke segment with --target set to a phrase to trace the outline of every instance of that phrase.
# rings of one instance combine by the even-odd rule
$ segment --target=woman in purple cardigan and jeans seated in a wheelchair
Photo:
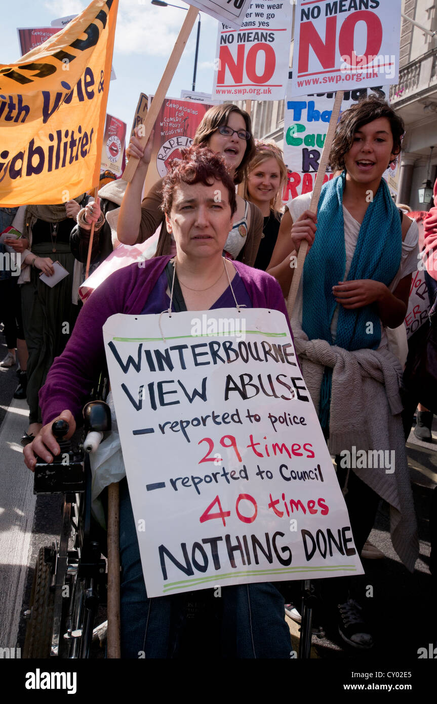
[[[115,272],[82,308],[65,351],[54,361],[39,394],[44,425],[24,450],[31,470],[36,455],[50,462],[50,453],[60,452],[51,432],[53,420],[67,420],[69,436],[75,431],[75,417],[80,417],[105,360],[102,327],[110,315],[168,309],[169,280],[178,294],[172,297],[172,310],[229,308],[238,301],[248,308],[286,313],[275,279],[222,256],[236,195],[220,156],[207,148],[186,150],[164,179],[162,207],[177,254],[171,261],[162,256]],[[174,657],[189,595],[148,598],[126,479],[120,482],[120,560],[122,658]],[[215,601],[220,601],[222,658],[289,658],[284,598],[273,584],[227,586]],[[208,624],[208,641],[210,637]]]

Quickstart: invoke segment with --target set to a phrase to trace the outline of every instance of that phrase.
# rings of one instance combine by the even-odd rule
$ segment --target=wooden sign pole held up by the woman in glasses
[[[141,139],[139,140],[143,148],[146,146],[148,138],[150,137],[150,133],[153,130],[153,125],[155,125],[155,121],[164,102],[165,95],[167,94],[167,90],[170,87],[170,83],[172,82],[173,74],[175,73],[175,70],[179,63],[179,59],[181,58],[182,52],[184,51],[185,44],[186,42],[188,42],[189,35],[191,34],[191,30],[194,27],[194,23],[196,22],[197,15],[198,8],[190,5],[189,11],[186,13],[184,24],[181,27],[175,46],[173,47],[172,54],[170,55],[170,58],[165,67],[163,77],[160,80],[160,84],[158,85],[156,94],[153,96],[153,101],[150,106],[150,110],[147,111],[146,120],[144,120],[144,136],[141,137]],[[123,172],[123,179],[125,181],[132,181],[134,173],[137,170],[138,164],[139,159],[134,158],[134,156],[129,157],[127,167]]]

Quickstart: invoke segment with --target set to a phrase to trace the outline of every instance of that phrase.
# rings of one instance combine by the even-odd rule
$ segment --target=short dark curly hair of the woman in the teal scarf
[[[371,95],[358,101],[341,114],[336,134],[329,152],[329,165],[333,171],[345,168],[344,158],[353,145],[353,137],[360,127],[368,122],[387,118],[393,136],[393,154],[400,152],[401,139],[405,132],[403,119],[395,113],[385,100]]]

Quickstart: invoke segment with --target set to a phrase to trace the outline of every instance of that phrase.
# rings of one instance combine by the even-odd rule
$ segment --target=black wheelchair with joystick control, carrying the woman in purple
[[[83,413],[82,442],[72,446],[68,423],[54,422],[61,453],[50,464],[37,458],[34,469],[34,494],[62,494],[63,505],[59,540],[38,553],[24,658],[89,658],[93,633],[104,639],[104,624],[94,623],[107,601],[106,532],[91,518],[89,451],[110,430],[110,409],[95,400]]]

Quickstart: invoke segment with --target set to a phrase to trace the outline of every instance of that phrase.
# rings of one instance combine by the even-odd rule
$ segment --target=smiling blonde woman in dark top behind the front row
[[[254,267],[265,271],[270,264],[281,222],[281,193],[287,177],[282,152],[274,142],[255,141],[256,153],[248,165],[244,198],[260,208],[264,227]]]

